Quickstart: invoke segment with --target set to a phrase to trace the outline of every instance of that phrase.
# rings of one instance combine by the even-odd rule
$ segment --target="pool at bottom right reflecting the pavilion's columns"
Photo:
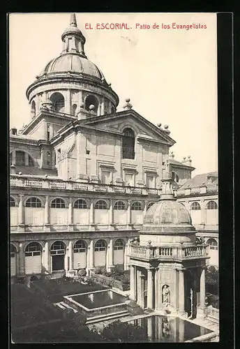
[[[179,343],[214,332],[181,318],[151,315],[128,321],[146,332],[151,342]]]

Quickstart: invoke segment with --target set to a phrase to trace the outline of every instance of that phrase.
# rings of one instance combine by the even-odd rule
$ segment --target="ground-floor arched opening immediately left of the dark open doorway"
[[[30,242],[25,249],[25,274],[41,274],[42,246],[38,242]]]

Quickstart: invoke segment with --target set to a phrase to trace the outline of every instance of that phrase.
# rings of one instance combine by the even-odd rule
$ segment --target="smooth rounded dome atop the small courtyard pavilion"
[[[143,231],[187,232],[195,231],[190,213],[176,200],[159,200],[147,211]]]

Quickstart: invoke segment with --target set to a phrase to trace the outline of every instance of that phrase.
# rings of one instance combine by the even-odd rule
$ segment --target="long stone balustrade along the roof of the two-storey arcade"
[[[115,186],[62,179],[32,178],[20,174],[10,174],[10,187],[43,188],[70,191],[95,191],[101,193],[122,193],[133,195],[160,195],[160,189],[135,186]]]

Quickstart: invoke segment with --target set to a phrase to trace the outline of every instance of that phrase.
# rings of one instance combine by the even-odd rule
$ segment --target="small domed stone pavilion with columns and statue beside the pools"
[[[205,306],[208,245],[197,241],[188,210],[174,197],[170,175],[162,181],[160,200],[144,217],[140,242],[130,242],[130,297],[142,309],[196,318]]]

